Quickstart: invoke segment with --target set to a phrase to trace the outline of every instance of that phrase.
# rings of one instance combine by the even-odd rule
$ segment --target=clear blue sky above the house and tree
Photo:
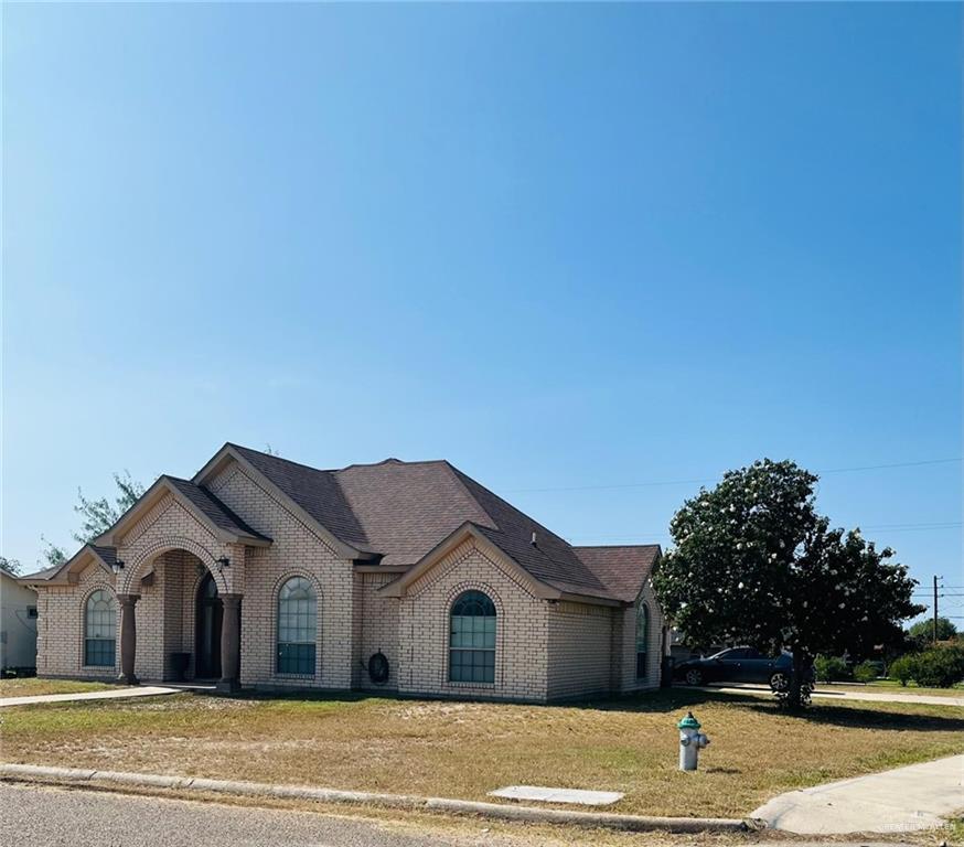
[[[961,15],[4,6],[3,555],[226,440],[448,458],[577,543],[958,459]],[[818,502],[960,586],[961,473]]]

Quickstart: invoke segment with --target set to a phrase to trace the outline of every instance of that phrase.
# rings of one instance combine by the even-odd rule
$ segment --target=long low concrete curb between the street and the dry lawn
[[[416,797],[407,794],[372,794],[364,791],[338,791],[313,789],[302,785],[270,785],[261,782],[235,782],[207,780],[191,776],[162,776],[151,773],[124,771],[94,771],[78,768],[47,768],[38,764],[0,763],[0,780],[42,781],[54,784],[78,783],[115,784],[148,789],[173,789],[179,791],[206,791],[218,794],[244,796],[310,800],[317,803],[353,803],[387,808],[421,810],[454,815],[473,815],[500,821],[523,821],[538,824],[567,824],[604,829],[623,829],[645,833],[739,833],[761,828],[760,822],[738,821],[727,817],[649,817],[643,815],[617,815],[604,812],[568,812],[558,808],[476,803],[446,797]]]

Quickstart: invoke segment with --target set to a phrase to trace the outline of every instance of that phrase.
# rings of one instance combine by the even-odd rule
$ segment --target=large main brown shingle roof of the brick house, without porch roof
[[[656,546],[574,548],[446,461],[386,459],[322,471],[238,444],[229,447],[338,539],[381,555],[384,565],[414,565],[460,526],[472,523],[542,582],[561,591],[632,602],[658,551]],[[583,556],[583,550],[590,553]],[[617,553],[610,557],[604,550]],[[632,586],[635,591],[630,597]]]

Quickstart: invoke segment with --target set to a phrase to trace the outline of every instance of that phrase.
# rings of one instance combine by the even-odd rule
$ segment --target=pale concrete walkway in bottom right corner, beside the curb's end
[[[964,810],[964,755],[781,794],[751,817],[800,835],[907,833]]]

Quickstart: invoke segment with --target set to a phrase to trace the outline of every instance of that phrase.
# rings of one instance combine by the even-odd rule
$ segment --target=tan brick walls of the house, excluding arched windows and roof
[[[208,487],[270,545],[225,543],[175,498],[161,498],[124,533],[117,547],[124,568],[117,576],[94,562],[72,585],[40,586],[39,674],[117,676],[119,647],[114,668],[83,664],[86,598],[98,588],[114,592],[116,582],[118,594],[140,598],[138,677],[170,678],[173,653],[191,654],[193,676],[197,590],[211,572],[219,592],[243,596],[244,686],[546,701],[658,683],[662,620],[649,588],[643,591],[651,609],[649,665],[638,679],[635,607],[540,599],[517,566],[471,539],[393,597],[383,589],[397,571],[378,572],[340,558],[317,527],[240,465],[226,465]],[[317,596],[313,674],[277,672],[278,593],[293,576],[308,579]],[[492,684],[449,680],[451,608],[472,589],[488,594],[496,609]],[[366,671],[376,652],[389,662],[383,685],[372,683]]]

